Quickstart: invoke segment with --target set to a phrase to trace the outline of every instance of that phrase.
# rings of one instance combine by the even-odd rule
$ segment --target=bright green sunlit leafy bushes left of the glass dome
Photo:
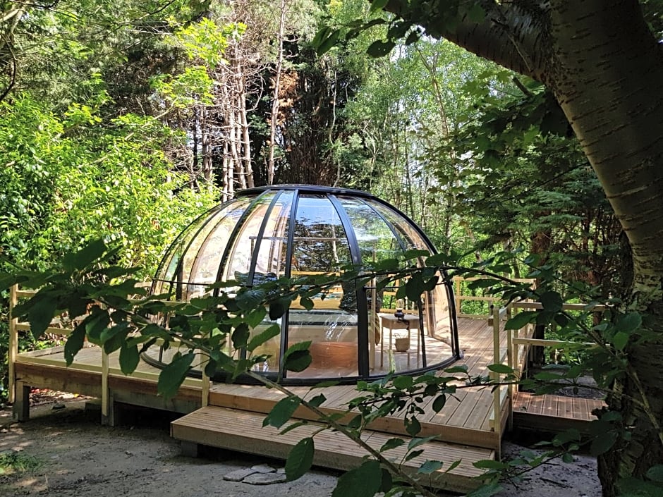
[[[194,200],[188,178],[169,171],[162,146],[178,137],[153,119],[101,128],[90,106],[60,119],[27,95],[2,105],[0,247],[13,262],[44,266],[103,235],[123,246],[118,262],[151,274],[178,226],[212,200]]]

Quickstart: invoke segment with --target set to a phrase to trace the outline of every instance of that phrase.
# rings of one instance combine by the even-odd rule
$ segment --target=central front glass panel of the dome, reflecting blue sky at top
[[[292,275],[340,271],[351,263],[341,218],[323,195],[300,195],[293,234]],[[288,378],[357,376],[357,307],[354,288],[336,286],[313,298],[307,311],[293,302],[288,314],[288,345],[311,340],[312,364]]]

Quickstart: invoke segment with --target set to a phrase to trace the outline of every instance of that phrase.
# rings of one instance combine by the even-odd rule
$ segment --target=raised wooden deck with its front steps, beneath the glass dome
[[[464,358],[456,364],[466,364],[470,375],[487,375],[487,364],[494,362],[494,339],[492,327],[487,319],[458,319],[459,336]],[[500,356],[506,352],[506,338],[499,342]],[[114,424],[116,410],[122,403],[152,407],[185,416],[171,424],[171,434],[184,443],[205,444],[232,450],[243,450],[273,457],[285,457],[288,447],[302,436],[310,433],[313,424],[300,427],[286,434],[277,435],[271,428],[262,428],[262,419],[284,393],[262,386],[237,384],[212,384],[203,388],[201,380],[187,379],[178,394],[166,401],[157,395],[159,369],[143,362],[130,376],[125,376],[119,368],[117,355],[107,358],[107,367],[102,368],[103,357],[97,347],[87,347],[75,357],[71,367],[66,367],[61,348],[20,354],[14,362],[16,374],[15,412],[18,419],[29,415],[28,395],[30,387],[51,388],[59,391],[73,391],[84,395],[107,398],[106,418],[102,422]],[[105,373],[104,373],[105,371]],[[320,406],[328,413],[346,412],[348,401],[360,395],[354,386],[334,386],[329,388],[291,387],[290,390],[302,398],[323,393],[326,400]],[[528,398],[518,394],[521,404],[514,412],[514,423],[518,426],[523,412],[533,413],[535,406],[545,410],[547,398]],[[432,399],[431,399],[432,401]],[[103,401],[102,401],[103,405]],[[547,416],[558,419],[566,412],[566,407],[549,407]],[[203,407],[205,406],[205,407]],[[525,407],[522,407],[525,406]],[[494,427],[494,395],[489,388],[458,388],[450,395],[440,412],[432,410],[431,403],[424,405],[425,413],[420,415],[422,430],[419,436],[437,436],[437,441],[427,445],[425,457],[444,461],[443,469],[435,472],[427,482],[429,486],[465,492],[477,486],[475,477],[480,474],[472,463],[476,460],[499,458],[501,434],[508,419],[511,407],[509,398],[504,398],[501,407],[503,416],[499,427]],[[571,404],[573,412],[582,412],[588,417],[592,406],[589,403]],[[577,407],[577,410],[576,410]],[[102,410],[103,412],[103,410]],[[299,419],[315,419],[315,415],[301,407],[295,416]],[[542,418],[549,424],[550,419]],[[572,420],[573,421],[573,420]],[[580,420],[581,422],[585,422]],[[573,421],[576,422],[576,421]],[[406,436],[402,415],[392,415],[377,419],[365,432],[367,440],[375,447],[382,446],[391,436]],[[315,464],[345,470],[360,462],[363,453],[358,446],[339,434],[323,431],[315,436]],[[402,457],[394,450],[394,457]],[[444,470],[451,462],[462,462],[451,472]],[[422,462],[418,458],[408,463],[408,471]]]

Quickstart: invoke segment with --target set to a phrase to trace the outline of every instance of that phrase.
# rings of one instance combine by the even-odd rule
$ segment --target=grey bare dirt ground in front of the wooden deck
[[[20,424],[10,411],[0,411],[0,455],[36,462],[13,474],[0,469],[0,496],[326,497],[339,475],[315,470],[298,481],[269,485],[226,481],[239,470],[283,463],[219,450],[183,457],[169,436],[170,419],[142,411],[133,413],[130,426],[102,427],[99,412],[85,404],[56,398],[32,407],[30,421]],[[506,443],[503,450],[520,448]],[[580,456],[570,465],[538,468],[518,486],[505,484],[499,497],[600,497],[596,462]]]

